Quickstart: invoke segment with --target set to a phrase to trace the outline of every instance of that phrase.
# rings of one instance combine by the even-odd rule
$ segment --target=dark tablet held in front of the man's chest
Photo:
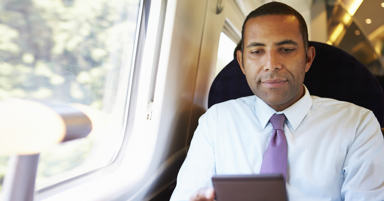
[[[287,201],[281,174],[215,175],[217,201]]]

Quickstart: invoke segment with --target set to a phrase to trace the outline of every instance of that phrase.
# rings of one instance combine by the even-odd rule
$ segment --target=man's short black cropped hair
[[[307,50],[308,50],[308,28],[307,24],[305,23],[305,20],[303,16],[297,12],[295,9],[290,7],[289,5],[286,5],[285,3],[280,3],[280,2],[270,2],[266,3],[252,12],[250,12],[245,18],[244,23],[243,23],[243,29],[241,32],[241,51],[243,52],[244,49],[244,30],[245,30],[245,23],[248,22],[249,19],[255,18],[255,17],[260,17],[260,16],[266,16],[266,15],[290,15],[290,16],[295,16],[297,20],[299,21],[299,29],[301,36],[303,37],[303,43],[304,43],[304,49],[305,49],[305,55],[307,55]]]

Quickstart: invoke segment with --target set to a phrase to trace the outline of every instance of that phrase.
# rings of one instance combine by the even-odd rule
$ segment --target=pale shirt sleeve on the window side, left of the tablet
[[[215,147],[213,133],[215,132],[214,116],[208,110],[199,119],[192,138],[187,158],[177,175],[176,188],[170,201],[188,200],[200,188],[212,187],[212,176],[216,174]]]

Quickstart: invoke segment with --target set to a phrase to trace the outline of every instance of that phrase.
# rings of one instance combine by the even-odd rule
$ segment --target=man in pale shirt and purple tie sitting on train
[[[267,3],[245,19],[242,42],[237,60],[256,96],[201,116],[171,201],[213,200],[215,174],[259,173],[283,174],[291,201],[384,200],[384,140],[372,111],[303,85],[315,56],[303,17]]]

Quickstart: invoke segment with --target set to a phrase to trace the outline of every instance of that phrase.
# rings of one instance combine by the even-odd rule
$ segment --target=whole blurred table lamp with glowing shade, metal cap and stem
[[[69,105],[30,100],[0,101],[0,155],[12,155],[3,201],[33,201],[39,153],[60,142],[87,136],[92,123]]]

